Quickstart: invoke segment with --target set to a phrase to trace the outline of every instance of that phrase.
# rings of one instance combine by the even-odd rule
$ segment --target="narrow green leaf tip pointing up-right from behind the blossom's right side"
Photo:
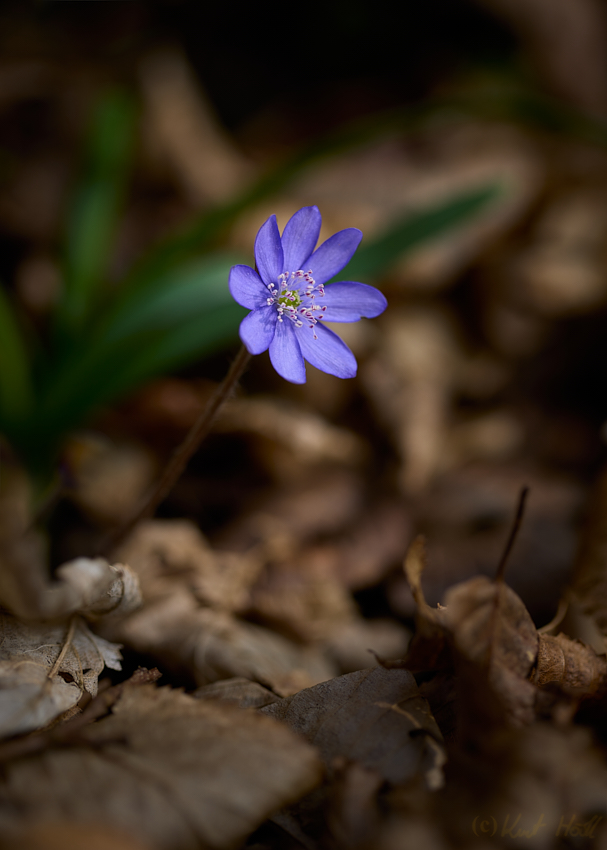
[[[503,192],[498,185],[463,192],[421,212],[409,212],[369,245],[358,249],[340,280],[376,278],[414,248],[465,224]]]

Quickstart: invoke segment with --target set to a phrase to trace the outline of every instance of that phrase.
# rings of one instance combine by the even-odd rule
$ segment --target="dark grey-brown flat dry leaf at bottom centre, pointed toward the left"
[[[420,774],[430,788],[442,784],[440,730],[406,670],[359,670],[261,711],[315,744],[327,765],[342,756],[388,782],[407,782]]]

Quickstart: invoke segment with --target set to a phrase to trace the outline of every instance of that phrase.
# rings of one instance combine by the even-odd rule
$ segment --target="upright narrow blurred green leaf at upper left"
[[[84,327],[97,305],[126,190],[135,123],[135,104],[121,91],[107,94],[97,107],[68,220],[65,290],[56,315],[59,330],[68,335]]]

